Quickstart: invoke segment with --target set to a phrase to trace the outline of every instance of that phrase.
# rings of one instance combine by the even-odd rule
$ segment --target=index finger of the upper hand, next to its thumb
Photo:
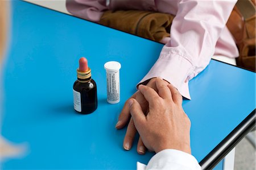
[[[148,86],[139,85],[139,92],[143,94],[149,105],[152,105],[154,101],[159,98],[158,93],[156,93],[154,89]]]

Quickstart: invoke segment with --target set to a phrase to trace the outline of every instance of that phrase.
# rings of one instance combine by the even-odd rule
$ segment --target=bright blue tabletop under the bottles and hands
[[[135,169],[152,153],[122,148],[126,128],[118,115],[136,84],[158,59],[163,44],[22,1],[11,3],[9,48],[2,67],[2,135],[26,143],[27,155],[3,169]],[[89,60],[98,88],[98,109],[73,110],[78,60]],[[119,61],[121,101],[106,102],[104,63]],[[189,82],[184,100],[191,119],[192,155],[204,159],[255,109],[255,73],[210,61]],[[137,136],[138,139],[138,136]],[[170,139],[171,140],[171,139]]]

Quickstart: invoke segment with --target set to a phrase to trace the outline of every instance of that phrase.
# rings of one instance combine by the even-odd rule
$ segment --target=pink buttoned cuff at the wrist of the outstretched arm
[[[181,50],[164,45],[159,59],[139,84],[143,84],[143,82],[154,77],[161,77],[174,85],[183,97],[191,99],[188,80],[191,79],[192,74],[192,63],[184,53]]]

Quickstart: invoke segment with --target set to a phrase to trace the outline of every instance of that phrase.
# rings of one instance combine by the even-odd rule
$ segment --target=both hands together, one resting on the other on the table
[[[176,149],[191,154],[191,122],[182,108],[177,89],[160,78],[152,78],[138,89],[125,102],[115,126],[123,128],[129,121],[123,148],[130,150],[138,131],[139,154],[144,154],[146,148],[155,152]]]

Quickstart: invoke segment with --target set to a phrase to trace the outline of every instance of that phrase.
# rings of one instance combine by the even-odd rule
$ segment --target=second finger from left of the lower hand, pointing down
[[[125,134],[125,139],[123,139],[123,148],[125,150],[130,150],[131,146],[133,145],[133,140],[136,135],[136,128],[134,126],[133,118],[130,119],[130,122],[127,126],[127,131]]]

